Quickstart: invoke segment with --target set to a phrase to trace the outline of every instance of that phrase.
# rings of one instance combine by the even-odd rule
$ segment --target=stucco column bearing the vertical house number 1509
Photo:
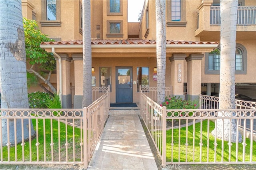
[[[172,85],[172,96],[181,97],[184,96],[184,60],[186,54],[174,53],[172,57],[169,57],[171,62],[171,85]]]

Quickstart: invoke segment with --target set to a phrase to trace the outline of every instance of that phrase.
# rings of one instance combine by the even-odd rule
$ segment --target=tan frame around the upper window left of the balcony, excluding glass
[[[186,27],[186,0],[180,0],[180,21],[172,21],[172,0],[167,0],[167,27]]]

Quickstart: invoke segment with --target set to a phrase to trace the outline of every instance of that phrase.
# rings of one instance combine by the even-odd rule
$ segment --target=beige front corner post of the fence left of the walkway
[[[87,107],[84,107],[83,109],[83,123],[84,123],[84,126],[83,126],[83,129],[84,129],[84,169],[87,169],[88,167],[88,158],[87,158]]]

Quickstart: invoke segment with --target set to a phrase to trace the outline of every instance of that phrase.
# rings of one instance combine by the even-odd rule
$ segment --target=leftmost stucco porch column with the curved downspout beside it
[[[67,54],[58,53],[62,64],[62,108],[71,108],[71,90],[70,90],[70,62],[71,58]],[[58,58],[55,58],[57,65],[57,92],[60,92],[60,67]]]

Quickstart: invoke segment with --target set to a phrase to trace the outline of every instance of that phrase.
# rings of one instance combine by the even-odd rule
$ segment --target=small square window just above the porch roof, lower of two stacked
[[[107,37],[123,37],[123,21],[107,20]]]

